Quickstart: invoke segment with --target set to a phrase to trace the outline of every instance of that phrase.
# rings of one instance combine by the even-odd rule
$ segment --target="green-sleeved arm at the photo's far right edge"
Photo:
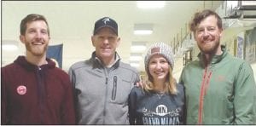
[[[235,80],[235,122],[236,124],[255,124],[256,84],[253,70],[246,62],[241,64]]]

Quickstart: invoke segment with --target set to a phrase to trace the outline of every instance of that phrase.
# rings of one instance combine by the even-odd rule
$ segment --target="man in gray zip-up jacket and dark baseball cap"
[[[135,68],[120,61],[118,25],[104,17],[95,23],[89,60],[70,67],[78,124],[129,124],[128,95],[138,81]]]

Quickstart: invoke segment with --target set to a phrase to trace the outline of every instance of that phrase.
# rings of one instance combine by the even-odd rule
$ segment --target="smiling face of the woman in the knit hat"
[[[154,81],[161,80],[165,82],[170,70],[170,65],[163,55],[154,54],[149,60],[148,69]]]

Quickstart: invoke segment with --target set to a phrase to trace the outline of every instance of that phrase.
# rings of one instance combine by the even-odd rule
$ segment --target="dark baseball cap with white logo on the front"
[[[93,35],[96,34],[97,31],[99,31],[103,27],[109,27],[113,30],[113,32],[118,36],[118,25],[115,22],[115,20],[109,18],[109,17],[103,17],[100,20],[97,20],[94,25]]]

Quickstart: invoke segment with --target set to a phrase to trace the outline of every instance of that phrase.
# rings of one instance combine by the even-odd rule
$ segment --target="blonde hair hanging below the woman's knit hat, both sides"
[[[143,89],[146,92],[154,91],[155,89],[153,77],[150,75],[149,72],[147,72],[147,76],[143,80]],[[169,68],[169,73],[166,78],[165,90],[167,90],[170,94],[177,94],[177,83],[176,79],[172,76],[172,67]]]

